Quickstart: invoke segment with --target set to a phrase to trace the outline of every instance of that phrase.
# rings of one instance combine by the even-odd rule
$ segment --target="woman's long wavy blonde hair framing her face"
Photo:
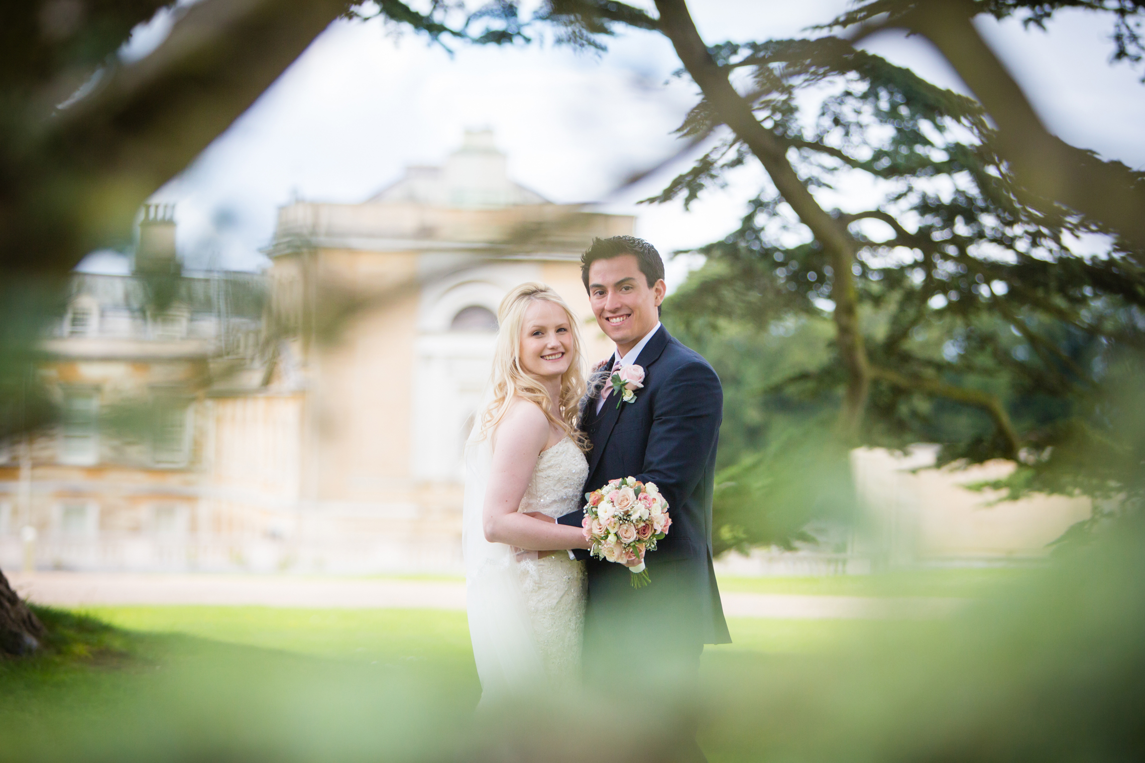
[[[572,334],[572,361],[561,374],[560,399],[556,400],[560,418],[553,415],[548,392],[536,377],[521,366],[521,332],[524,312],[532,302],[552,302],[564,310]],[[581,349],[581,331],[577,318],[561,295],[544,284],[521,284],[505,295],[497,309],[497,350],[493,353],[492,402],[481,413],[481,436],[489,436],[508,411],[514,397],[529,400],[542,411],[553,424],[564,430],[582,451],[589,450],[589,439],[577,429],[577,405],[585,394],[584,352]]]

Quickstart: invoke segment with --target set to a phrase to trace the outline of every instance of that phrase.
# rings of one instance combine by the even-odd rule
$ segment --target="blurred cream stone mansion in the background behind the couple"
[[[553,286],[607,357],[579,256],[633,223],[513,182],[487,130],[361,204],[279,208],[262,273],[180,273],[174,209],[149,205],[132,272],[74,273],[42,341],[30,373],[58,424],[0,443],[0,569],[459,570],[463,444],[502,297]],[[903,564],[1036,556],[1089,512],[982,509],[911,459],[854,458]]]

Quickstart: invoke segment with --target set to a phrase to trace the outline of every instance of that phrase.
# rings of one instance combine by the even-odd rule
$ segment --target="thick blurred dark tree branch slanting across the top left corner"
[[[0,251],[61,273],[127,239],[140,205],[226,130],[346,0],[203,0],[149,56],[109,69],[87,97],[3,157]],[[27,150],[32,148],[33,150]]]

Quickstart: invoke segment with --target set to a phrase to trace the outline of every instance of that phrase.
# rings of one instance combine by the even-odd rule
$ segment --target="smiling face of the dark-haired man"
[[[589,300],[600,329],[616,342],[621,355],[650,332],[660,316],[656,308],[666,292],[663,280],[648,286],[634,254],[597,260],[589,267]]]

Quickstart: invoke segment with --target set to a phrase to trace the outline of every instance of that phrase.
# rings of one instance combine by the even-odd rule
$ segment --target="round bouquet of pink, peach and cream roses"
[[[634,477],[610,479],[600,490],[584,494],[584,539],[592,543],[591,554],[598,559],[617,564],[640,561],[629,567],[632,587],[650,582],[645,567],[646,551],[656,550],[656,541],[668,534],[672,519],[668,501],[654,483]]]

